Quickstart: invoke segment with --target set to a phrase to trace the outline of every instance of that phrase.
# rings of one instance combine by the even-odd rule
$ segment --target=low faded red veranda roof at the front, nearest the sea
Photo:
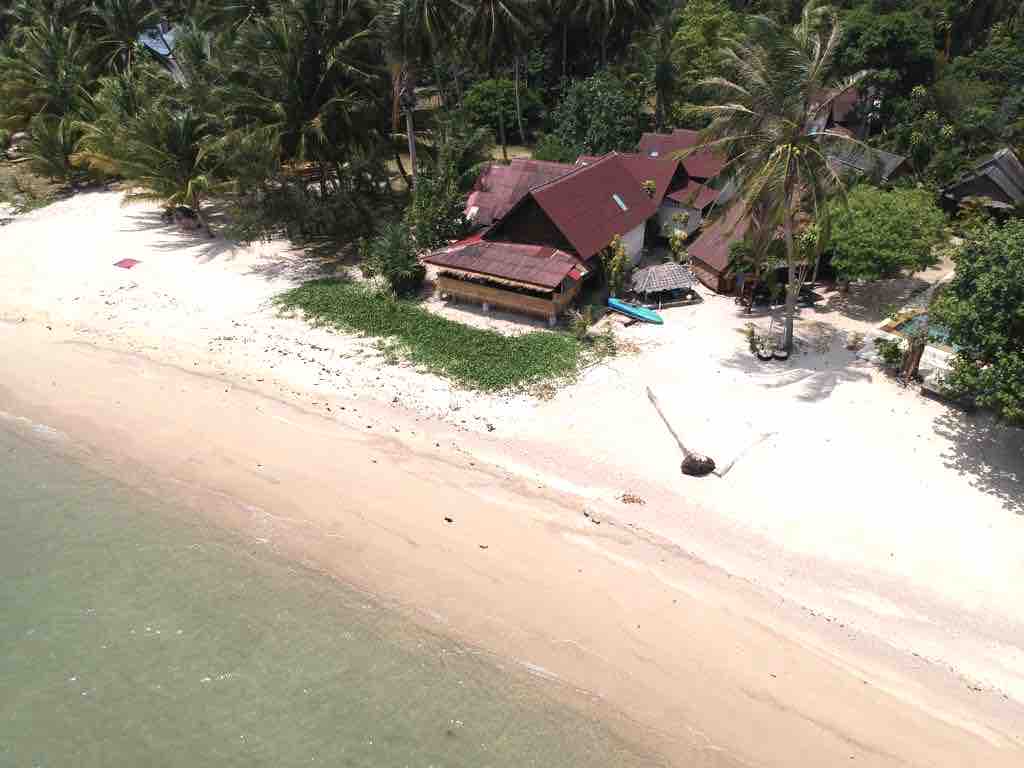
[[[469,238],[427,254],[428,264],[552,290],[565,275],[581,274],[580,260],[550,246],[495,243]],[[575,276],[574,279],[579,279]]]

